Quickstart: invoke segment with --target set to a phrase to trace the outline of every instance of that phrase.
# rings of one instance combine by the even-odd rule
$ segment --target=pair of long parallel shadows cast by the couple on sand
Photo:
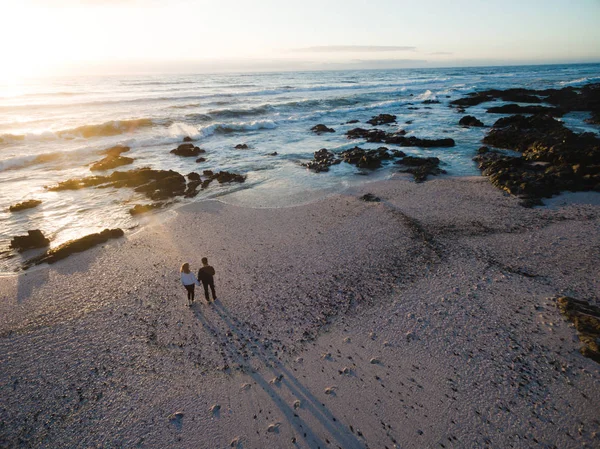
[[[294,408],[281,396],[278,390],[283,387],[286,387],[296,399],[300,400],[302,409],[313,415],[315,420],[331,435],[331,438],[338,442],[338,447],[343,449],[364,449],[366,447],[364,442],[351,433],[348,427],[340,423],[331,411],[294,377],[265,345],[259,342],[257,335],[252,329],[239,324],[239,320],[233,317],[220,301],[215,301],[212,307],[225,324],[226,329],[231,332],[231,336],[237,337],[237,342],[234,341],[234,338],[225,340],[224,348],[232,361],[244,367],[244,372],[271,397],[273,403],[281,410],[287,422],[304,438],[309,447],[323,448],[327,447],[328,444],[310,429],[306,421],[300,418]],[[209,322],[202,312],[195,310],[194,313],[210,334],[215,337],[220,334],[222,335],[222,331],[216,325]],[[252,348],[249,358],[259,361],[261,367],[266,368],[268,371],[261,374],[250,367],[248,360],[243,355],[244,347],[238,347],[240,345],[239,342],[243,342],[245,348]],[[271,376],[274,377],[268,379]],[[278,385],[277,388],[275,387],[276,384]]]

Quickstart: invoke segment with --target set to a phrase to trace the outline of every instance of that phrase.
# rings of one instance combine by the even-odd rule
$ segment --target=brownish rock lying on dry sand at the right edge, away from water
[[[577,330],[581,342],[579,352],[600,363],[600,307],[568,296],[557,298],[556,304]]]

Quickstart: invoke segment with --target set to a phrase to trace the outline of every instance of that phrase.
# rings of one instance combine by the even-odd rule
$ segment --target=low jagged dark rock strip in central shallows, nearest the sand
[[[315,151],[313,160],[302,164],[304,167],[317,173],[329,171],[329,167],[341,162],[347,162],[356,165],[358,168],[376,169],[381,167],[381,161],[403,157],[404,153],[398,150],[390,151],[388,148],[381,147],[376,150],[364,150],[354,147],[344,150],[339,155],[332,151],[322,148]]]

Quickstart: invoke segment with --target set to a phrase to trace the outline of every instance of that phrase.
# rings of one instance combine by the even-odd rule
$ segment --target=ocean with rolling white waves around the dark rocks
[[[402,150],[440,158],[448,175],[473,176],[479,171],[471,159],[486,130],[462,128],[458,121],[469,114],[489,126],[502,115],[487,114],[486,103],[457,113],[448,107],[450,101],[491,88],[562,88],[599,81],[600,64],[582,64],[86,76],[0,84],[0,272],[18,269],[22,256],[6,250],[11,237],[29,229],[41,229],[56,246],[104,228],[135,229],[149,220],[129,214],[133,204],[149,202],[132,189],[45,188],[92,175],[89,165],[114,145],[131,147],[124,156],[134,159],[116,170],[151,167],[184,175],[227,170],[247,176],[243,184],[213,183],[196,198],[179,203],[219,197],[247,207],[287,207],[392,175],[393,165],[367,172],[340,164],[327,173],[301,165],[321,148],[336,152],[357,145],[379,147],[345,136],[349,129],[369,127],[365,121],[375,115],[398,117],[397,123],[380,127],[386,131],[453,138],[452,148]],[[577,132],[597,133],[597,127],[584,122],[587,117],[569,113],[562,120]],[[347,124],[349,120],[360,123]],[[319,123],[336,132],[312,133],[310,128]],[[205,162],[170,153],[188,136],[206,150]],[[248,149],[235,149],[237,144]],[[28,199],[42,204],[8,211]]]

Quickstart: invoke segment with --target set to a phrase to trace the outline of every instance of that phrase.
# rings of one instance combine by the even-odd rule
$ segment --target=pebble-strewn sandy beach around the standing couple
[[[599,197],[225,197],[0,278],[0,446],[600,447],[600,365],[552,299],[598,303]],[[190,309],[202,256],[219,300]]]

